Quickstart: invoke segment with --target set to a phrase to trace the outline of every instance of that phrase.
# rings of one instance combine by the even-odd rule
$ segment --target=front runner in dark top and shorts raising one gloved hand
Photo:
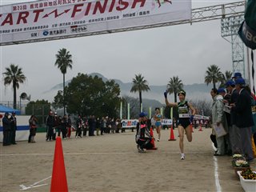
[[[193,122],[195,110],[194,107],[185,100],[186,92],[181,90],[178,92],[178,98],[180,102],[168,102],[167,92],[164,93],[166,106],[177,106],[178,107],[178,137],[179,137],[179,148],[181,150],[181,159],[185,159],[184,154],[184,130],[186,131],[186,138],[189,142],[192,142],[192,132],[190,130],[190,123]],[[191,116],[189,114],[191,110]]]

